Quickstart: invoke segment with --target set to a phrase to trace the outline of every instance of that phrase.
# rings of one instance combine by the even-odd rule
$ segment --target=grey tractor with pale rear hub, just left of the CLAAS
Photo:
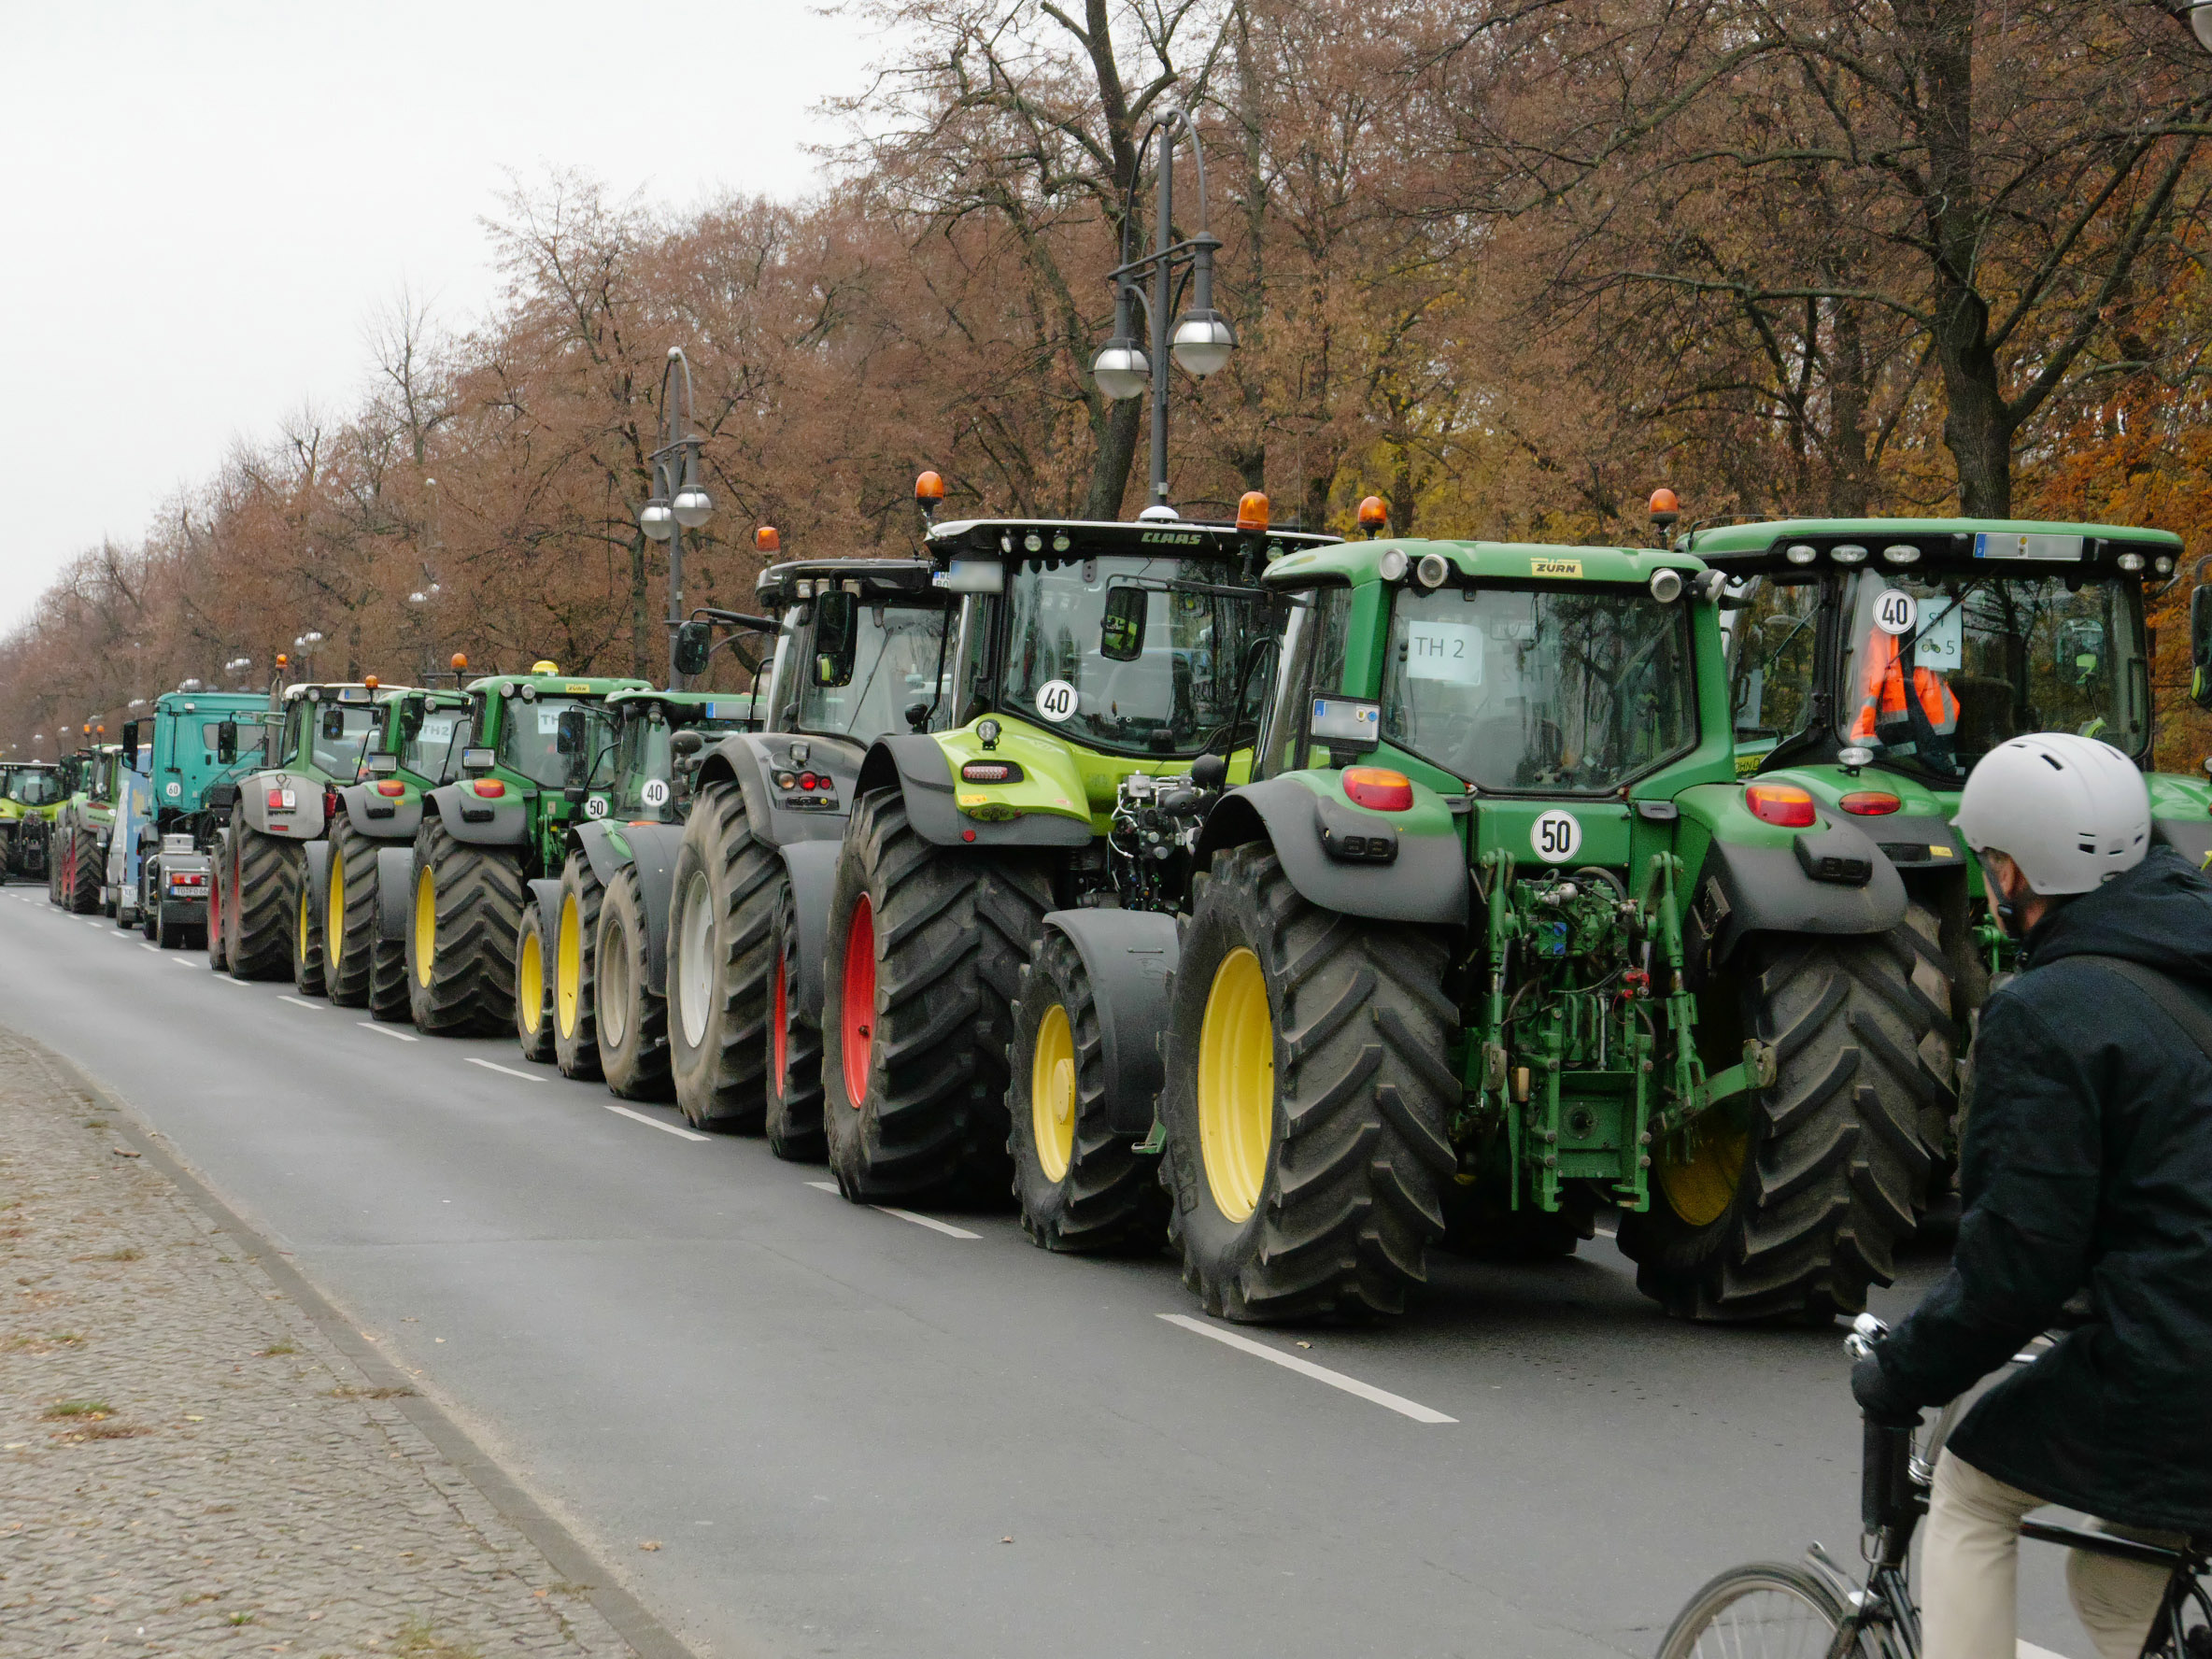
[[[763,730],[679,763],[692,810],[666,949],[677,1104],[701,1128],[765,1128],[776,1157],[823,1157],[816,1011],[860,763],[889,732],[949,723],[956,599],[933,575],[918,560],[763,571],[759,608],[781,619]]]

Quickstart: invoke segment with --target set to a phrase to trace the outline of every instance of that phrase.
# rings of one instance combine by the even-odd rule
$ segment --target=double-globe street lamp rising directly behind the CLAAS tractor
[[[1137,175],[1144,170],[1144,153],[1159,135],[1159,192],[1152,212],[1152,252],[1135,257],[1130,252],[1137,234]],[[1175,241],[1175,139],[1190,139],[1190,159],[1199,173],[1199,230],[1183,241]],[[1214,248],[1221,239],[1206,228],[1206,150],[1199,148],[1199,131],[1190,115],[1179,108],[1161,111],[1137,142],[1137,166],[1128,177],[1128,199],[1121,210],[1121,263],[1108,272],[1115,285],[1113,338],[1099,347],[1091,361],[1091,378],[1097,389],[1115,400],[1152,394],[1152,500],[1139,518],[1175,518],[1168,507],[1168,356],[1172,354],[1183,372],[1206,378],[1237,349],[1237,330],[1230,319],[1214,310]],[[1177,274],[1188,274],[1192,305],[1168,325],[1175,314]],[[1150,290],[1146,292],[1146,281]],[[1144,307],[1146,338],[1150,352],[1137,343],[1137,307]]]

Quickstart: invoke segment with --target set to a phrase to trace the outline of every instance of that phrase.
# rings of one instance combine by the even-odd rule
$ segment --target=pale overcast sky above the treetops
[[[343,414],[403,283],[480,314],[509,173],[803,195],[876,55],[805,0],[0,0],[0,630],[234,440]]]

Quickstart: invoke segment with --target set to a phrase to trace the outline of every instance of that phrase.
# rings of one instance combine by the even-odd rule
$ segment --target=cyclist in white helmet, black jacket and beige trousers
[[[1951,1267],[1851,1391],[1869,1418],[1911,1422],[2086,1301],[1936,1464],[1922,1655],[2013,1659],[2031,1509],[2159,1544],[2212,1535],[2212,1055],[2194,1031],[2212,1042],[2212,880],[2150,845],[2135,763],[2073,732],[1991,750],[1958,830],[2022,971],[1975,1035]],[[2163,1579],[2084,1553],[2066,1566],[2106,1659],[2141,1650]]]

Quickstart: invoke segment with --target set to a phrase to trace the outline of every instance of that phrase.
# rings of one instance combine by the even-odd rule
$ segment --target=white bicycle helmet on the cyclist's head
[[[2031,732],[1975,763],[1953,823],[1975,852],[2020,865],[2037,894],[2086,894],[2143,863],[2150,787],[2110,743]]]

